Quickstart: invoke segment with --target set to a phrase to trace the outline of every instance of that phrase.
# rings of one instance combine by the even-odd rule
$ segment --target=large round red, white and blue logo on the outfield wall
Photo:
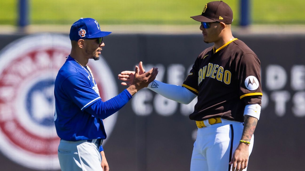
[[[60,169],[54,83],[70,51],[69,37],[39,34],[15,40],[0,52],[0,151],[22,166]],[[98,78],[102,100],[116,96],[117,85],[106,61],[100,58],[88,65]],[[113,114],[104,120],[108,136],[116,119]]]

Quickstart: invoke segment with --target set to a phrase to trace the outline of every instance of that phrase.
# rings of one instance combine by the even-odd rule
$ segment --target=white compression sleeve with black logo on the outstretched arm
[[[166,84],[157,80],[149,83],[148,89],[166,97],[167,99],[174,100],[178,103],[188,104],[197,96],[185,87],[180,85]]]

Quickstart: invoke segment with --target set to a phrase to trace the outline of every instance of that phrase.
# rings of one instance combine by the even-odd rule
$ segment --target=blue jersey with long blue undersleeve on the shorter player
[[[90,72],[70,55],[57,74],[54,95],[56,132],[66,141],[106,139],[102,119],[117,112],[132,97],[125,89],[102,102]]]

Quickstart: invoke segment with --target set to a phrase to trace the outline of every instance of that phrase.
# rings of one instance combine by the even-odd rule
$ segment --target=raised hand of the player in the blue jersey
[[[143,73],[140,75],[139,67],[135,66],[135,74],[132,85],[135,85],[137,90],[140,90],[144,87],[147,87],[149,83],[156,79],[158,74],[158,68],[151,68],[148,72]]]

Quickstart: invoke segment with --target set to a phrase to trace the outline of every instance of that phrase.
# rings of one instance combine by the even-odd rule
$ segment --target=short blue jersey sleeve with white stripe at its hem
[[[82,111],[101,97],[92,89],[88,80],[83,75],[72,75],[66,78],[62,84],[66,93]]]

